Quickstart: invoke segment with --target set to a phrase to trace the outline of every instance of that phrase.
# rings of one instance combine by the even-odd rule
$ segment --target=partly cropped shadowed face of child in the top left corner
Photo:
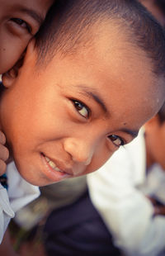
[[[0,0],[0,73],[20,58],[53,0]]]

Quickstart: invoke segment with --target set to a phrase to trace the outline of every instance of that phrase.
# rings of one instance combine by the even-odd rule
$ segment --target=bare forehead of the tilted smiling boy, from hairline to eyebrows
[[[90,36],[91,40],[79,45],[75,52],[65,56],[56,53],[45,69],[34,72],[37,66],[34,69],[27,62],[27,67],[25,62],[24,80],[31,79],[33,91],[45,81],[47,88],[51,84],[54,90],[71,97],[75,92],[95,93],[105,103],[116,126],[125,124],[138,130],[163,102],[161,87],[154,84],[152,64],[142,50],[130,45],[124,33],[112,26],[104,24]]]

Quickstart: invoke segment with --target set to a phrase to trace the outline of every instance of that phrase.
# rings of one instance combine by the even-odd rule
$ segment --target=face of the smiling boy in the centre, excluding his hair
[[[141,51],[105,26],[102,31],[90,47],[64,58],[56,54],[45,69],[35,66],[31,43],[19,76],[2,95],[2,130],[30,183],[100,168],[163,102]]]

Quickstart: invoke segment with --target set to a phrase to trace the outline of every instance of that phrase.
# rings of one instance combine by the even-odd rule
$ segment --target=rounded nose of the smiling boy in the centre
[[[91,163],[94,146],[89,141],[68,138],[64,141],[64,149],[74,162],[84,165]]]

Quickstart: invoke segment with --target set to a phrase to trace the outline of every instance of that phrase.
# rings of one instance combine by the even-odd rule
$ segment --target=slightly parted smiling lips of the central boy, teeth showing
[[[45,154],[40,154],[41,159],[45,165],[44,173],[45,175],[50,178],[53,182],[59,182],[64,178],[71,178],[73,175],[71,174],[71,170],[69,169],[62,169],[57,166],[57,164]]]

